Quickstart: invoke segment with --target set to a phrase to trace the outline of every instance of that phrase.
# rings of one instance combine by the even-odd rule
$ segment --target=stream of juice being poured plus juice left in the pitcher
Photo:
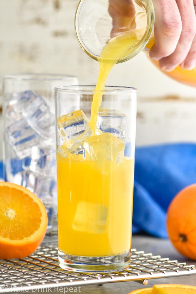
[[[99,61],[99,76],[98,81],[96,85],[96,93],[93,96],[93,102],[91,106],[91,120],[90,120],[90,126],[92,129],[93,134],[96,134],[96,121],[98,116],[98,110],[101,105],[102,101],[102,92],[105,88],[105,82],[108,77],[109,72],[113,68],[113,66],[124,56],[127,54],[127,52],[131,51],[131,48],[133,50],[135,49],[135,46],[137,46],[137,43],[139,42],[136,36],[137,30],[132,32],[126,32],[120,36],[117,36],[113,39],[110,39],[110,41],[106,44],[106,46],[103,48],[103,51],[100,54],[100,57],[98,58]],[[146,48],[148,50],[151,49],[151,47],[154,45],[154,37],[150,39],[148,44],[146,45]],[[153,64],[156,67],[159,67],[158,61],[153,61]],[[164,72],[164,74],[167,76],[182,82],[186,83],[191,86],[196,86],[196,67],[192,70],[184,70],[181,69],[180,66],[177,66],[173,71],[170,72]]]

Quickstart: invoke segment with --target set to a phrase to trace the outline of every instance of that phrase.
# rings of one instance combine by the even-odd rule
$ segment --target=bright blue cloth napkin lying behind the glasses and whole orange
[[[21,160],[13,161],[11,168],[13,174],[21,171]],[[0,162],[2,177],[3,165]],[[167,238],[167,208],[182,188],[193,183],[196,183],[196,144],[176,143],[136,148],[133,233],[144,231]]]

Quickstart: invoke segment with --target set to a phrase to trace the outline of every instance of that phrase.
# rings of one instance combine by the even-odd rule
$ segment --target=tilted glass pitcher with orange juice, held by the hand
[[[126,5],[123,7],[125,2]],[[108,41],[119,34],[129,34],[130,49],[118,63],[133,58],[142,50],[148,52],[153,46],[155,15],[152,0],[129,1],[129,9],[127,2],[126,0],[79,2],[75,18],[76,35],[82,49],[93,59],[98,60]],[[158,67],[158,61],[151,61]],[[185,70],[177,66],[173,71],[164,74],[182,83],[196,86],[196,67]]]

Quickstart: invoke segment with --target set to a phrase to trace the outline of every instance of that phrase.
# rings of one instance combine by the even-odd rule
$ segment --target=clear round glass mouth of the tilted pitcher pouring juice
[[[126,0],[121,0],[122,4]],[[75,17],[75,30],[81,48],[91,58],[98,60],[101,51],[113,37],[130,33],[130,51],[118,63],[133,58],[148,43],[154,27],[154,7],[151,0],[132,0],[132,16],[130,26],[115,28],[115,16],[111,13],[111,0],[81,0],[78,4]],[[118,2],[119,4],[120,2]]]

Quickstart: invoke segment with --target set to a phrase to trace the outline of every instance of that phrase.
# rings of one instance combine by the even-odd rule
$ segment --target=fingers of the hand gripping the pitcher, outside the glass
[[[196,2],[196,1],[195,1]],[[196,18],[193,0],[153,0],[155,44],[150,58],[160,69],[193,69],[196,62]],[[196,3],[195,3],[196,4]]]

